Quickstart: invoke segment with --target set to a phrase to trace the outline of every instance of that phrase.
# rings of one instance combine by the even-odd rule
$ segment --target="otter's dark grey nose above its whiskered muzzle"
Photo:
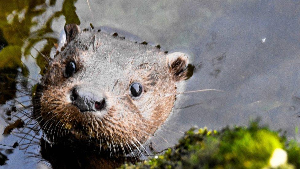
[[[77,106],[81,112],[100,111],[105,108],[105,98],[103,96],[85,91],[81,87],[74,87],[70,97],[72,104]]]

